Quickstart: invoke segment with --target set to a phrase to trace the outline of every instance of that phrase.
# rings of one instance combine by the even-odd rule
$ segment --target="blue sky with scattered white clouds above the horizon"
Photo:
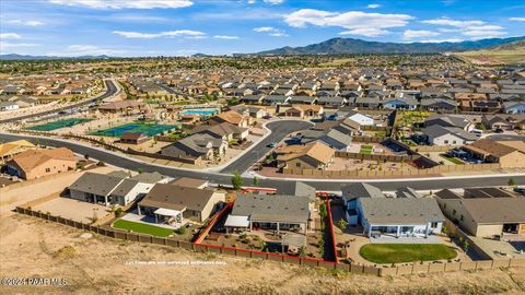
[[[231,55],[332,37],[459,42],[525,35],[523,0],[2,0],[0,52]]]

